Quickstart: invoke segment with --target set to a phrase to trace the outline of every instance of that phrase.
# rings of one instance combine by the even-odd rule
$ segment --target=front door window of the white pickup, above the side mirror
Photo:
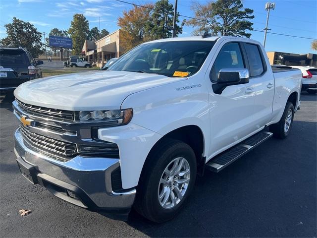
[[[245,68],[238,43],[227,43],[222,47],[211,69],[212,81],[218,80],[219,71],[223,68]]]

